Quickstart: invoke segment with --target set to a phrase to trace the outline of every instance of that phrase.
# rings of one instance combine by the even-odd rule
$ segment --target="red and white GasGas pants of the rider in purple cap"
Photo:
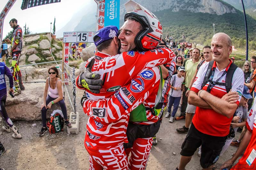
[[[151,142],[152,143],[152,142]],[[92,143],[85,142],[85,149],[89,153],[89,170],[128,170],[128,157],[124,145],[111,148],[93,147]]]

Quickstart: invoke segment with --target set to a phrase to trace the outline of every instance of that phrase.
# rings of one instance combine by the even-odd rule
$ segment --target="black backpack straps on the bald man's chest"
[[[204,76],[204,81],[203,81],[203,84],[202,84],[202,88],[207,84],[207,82],[209,83],[212,83],[212,80],[210,80],[210,77],[212,75],[212,65],[213,65],[213,62],[214,61],[210,61],[209,63],[209,66],[207,68],[207,71],[205,73],[205,76]],[[226,87],[226,91],[227,93],[230,91],[230,89],[232,88],[232,79],[233,79],[233,75],[234,75],[234,72],[236,71],[236,68],[237,68],[237,65],[234,64],[234,63],[231,63],[231,65],[229,66],[229,69],[227,71],[227,75],[226,75],[226,80],[225,80],[225,83],[222,83],[222,82],[215,82],[215,85],[223,85]],[[210,92],[210,88],[209,86],[207,87],[207,92]]]

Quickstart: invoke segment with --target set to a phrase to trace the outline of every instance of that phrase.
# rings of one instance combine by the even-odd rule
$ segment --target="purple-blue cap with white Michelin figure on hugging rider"
[[[93,37],[95,46],[97,47],[101,42],[117,37],[117,32],[118,29],[116,26],[105,26],[104,28],[101,28]],[[95,42],[97,36],[100,37],[100,40]]]

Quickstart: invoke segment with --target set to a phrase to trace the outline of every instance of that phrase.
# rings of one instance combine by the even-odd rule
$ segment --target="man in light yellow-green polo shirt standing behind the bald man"
[[[191,107],[191,105],[188,105],[188,97],[186,96],[186,92],[188,90],[188,87],[190,85],[192,78],[194,77],[194,74],[197,69],[197,65],[200,62],[199,60],[200,49],[194,48],[191,55],[193,56],[193,58],[189,59],[185,65],[185,74],[184,74],[185,81],[182,84],[182,89],[183,89],[182,104],[180,107],[180,116],[175,118],[175,120],[177,121],[181,119],[185,119],[186,113],[193,113],[192,111],[194,110],[194,108]],[[188,128],[186,128],[185,130],[186,132],[188,132]]]

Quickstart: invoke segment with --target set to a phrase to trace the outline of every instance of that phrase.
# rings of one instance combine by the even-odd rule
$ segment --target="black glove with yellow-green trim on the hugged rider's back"
[[[85,69],[85,72],[81,73],[79,76],[79,84],[84,88],[90,90],[93,93],[100,93],[101,85],[103,80],[100,79],[100,74],[92,73],[92,66],[94,64],[94,58],[90,61]]]

